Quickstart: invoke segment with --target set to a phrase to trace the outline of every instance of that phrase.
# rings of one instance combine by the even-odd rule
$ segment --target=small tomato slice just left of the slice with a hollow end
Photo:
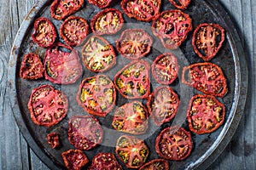
[[[156,82],[166,85],[172,84],[179,71],[177,57],[172,53],[161,54],[154,59],[151,71]]]

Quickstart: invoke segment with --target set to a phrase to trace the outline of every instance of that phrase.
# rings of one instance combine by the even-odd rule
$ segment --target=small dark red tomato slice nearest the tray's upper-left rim
[[[54,44],[56,37],[57,31],[49,19],[41,17],[35,21],[32,40],[38,43],[38,46],[49,48]]]

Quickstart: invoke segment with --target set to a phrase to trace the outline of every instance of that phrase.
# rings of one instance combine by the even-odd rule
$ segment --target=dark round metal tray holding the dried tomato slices
[[[26,81],[20,79],[19,71],[20,64],[23,56],[27,53],[35,52],[44,58],[45,49],[39,48],[37,44],[32,42],[32,31],[33,22],[38,17],[44,16],[49,18],[55,24],[57,30],[60,28],[62,21],[53,20],[50,17],[49,6],[52,1],[38,1],[38,3],[32,8],[31,12],[27,14],[26,19],[23,21],[18,31],[13,49],[10,55],[9,61],[9,99],[10,104],[13,109],[15,120],[18,127],[20,127],[21,133],[24,135],[27,143],[31,146],[32,150],[38,155],[38,157],[44,161],[44,163],[51,169],[61,169],[65,168],[64,162],[62,161],[61,153],[65,150],[74,149],[74,146],[69,143],[67,139],[68,130],[68,120],[70,116],[73,115],[87,115],[83,109],[76,102],[76,94],[78,93],[79,83],[85,78],[93,76],[94,73],[86,70],[84,68],[84,74],[81,79],[73,85],[56,85],[44,79],[38,81]],[[119,3],[113,6],[113,8],[120,8]],[[173,9],[169,1],[164,0],[161,6],[161,11],[166,9]],[[91,5],[90,3],[85,3],[84,8],[82,8],[75,15],[83,16],[86,20],[90,22],[91,18],[100,11],[99,8]],[[247,96],[247,64],[243,55],[243,48],[241,47],[240,39],[237,35],[236,28],[232,21],[230,20],[229,14],[227,14],[222,8],[221,4],[217,0],[214,1],[201,1],[193,0],[189,5],[189,8],[184,10],[185,13],[189,14],[193,19],[194,29],[201,23],[218,23],[224,27],[226,31],[226,40],[223,47],[218,52],[216,58],[212,59],[212,63],[219,65],[223,71],[224,75],[227,77],[229,93],[223,98],[219,99],[226,106],[226,117],[224,125],[218,128],[217,131],[209,134],[198,135],[192,133],[192,138],[194,142],[194,148],[191,155],[184,161],[170,161],[171,169],[205,169],[209,166],[212,161],[214,161],[226,144],[230,142],[230,139],[236,131],[236,127],[240,122],[241,115],[243,113],[245,100]],[[138,22],[128,18],[125,14],[125,28],[142,28],[148,31],[149,34],[154,37],[151,31],[151,23]],[[172,50],[172,53],[177,55],[178,61],[181,65],[181,69],[185,65],[190,65],[202,60],[195,54],[194,49],[191,44],[193,32],[189,33],[188,39],[183,42],[182,46],[176,50]],[[115,36],[104,36],[109,42],[115,46],[115,40],[120,36],[117,34]],[[60,42],[63,42],[59,38]],[[82,46],[77,49],[80,51]],[[148,60],[149,63],[155,59],[155,57],[161,53],[166,53],[171,50],[163,48],[158,38],[154,37],[154,46],[152,52],[144,59]],[[129,63],[129,59],[124,59],[122,56],[118,56],[117,65],[107,74],[113,79],[116,71],[119,71],[124,65]],[[179,74],[180,75],[180,74]],[[149,121],[148,132],[144,135],[137,135],[138,138],[144,139],[148,147],[150,148],[150,154],[148,156],[148,161],[158,158],[154,150],[155,138],[160,133],[164,127],[169,127],[172,125],[183,126],[189,129],[188,122],[186,120],[186,110],[188,108],[189,99],[200,92],[193,88],[189,88],[181,82],[181,77],[179,76],[177,81],[175,81],[171,87],[177,92],[181,99],[181,105],[177,116],[161,127],[156,127],[151,118]],[[62,90],[67,94],[70,101],[70,108],[67,113],[67,117],[54,127],[39,127],[34,124],[30,118],[29,111],[27,109],[27,103],[32,92],[32,88],[38,88],[40,85],[50,84],[55,88]],[[155,87],[159,86],[154,82],[154,78],[151,78],[152,91]],[[117,107],[123,105],[128,99],[122,98],[118,94]],[[143,103],[146,100],[143,99]],[[113,110],[114,111],[114,110]],[[113,112],[108,114],[105,118],[97,117],[102,123],[102,127],[105,130],[105,137],[103,143],[96,147],[96,149],[90,151],[84,151],[89,157],[90,161],[99,152],[114,152],[114,145],[116,139],[122,134],[117,133],[111,127],[111,122],[113,119]],[[60,133],[61,137],[61,148],[51,149],[47,143],[46,136],[48,133],[57,132]],[[122,164],[125,167],[124,164]]]

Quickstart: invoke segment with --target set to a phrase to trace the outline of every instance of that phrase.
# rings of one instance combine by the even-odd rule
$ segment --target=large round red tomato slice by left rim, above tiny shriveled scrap
[[[67,96],[50,85],[32,90],[28,102],[32,121],[40,126],[51,127],[67,115]]]

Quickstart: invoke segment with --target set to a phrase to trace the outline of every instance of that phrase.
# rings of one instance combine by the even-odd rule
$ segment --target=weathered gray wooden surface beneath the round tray
[[[256,169],[256,1],[219,0],[235,21],[249,71],[246,111],[210,169]],[[48,169],[26,144],[9,107],[8,65],[15,34],[36,0],[0,0],[0,169]]]

